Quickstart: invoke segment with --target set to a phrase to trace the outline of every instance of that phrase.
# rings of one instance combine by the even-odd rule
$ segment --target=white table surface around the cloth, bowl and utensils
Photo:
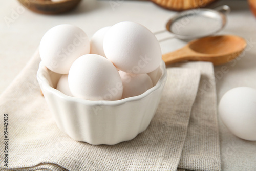
[[[114,3],[113,3],[114,2]],[[111,6],[115,4],[116,6]],[[234,87],[256,88],[256,17],[249,11],[247,1],[217,1],[208,8],[229,5],[228,23],[219,34],[234,34],[244,37],[248,46],[245,53],[235,61],[223,65],[228,72],[215,67],[218,102],[222,95]],[[51,27],[58,24],[73,24],[92,37],[98,29],[111,26],[122,20],[132,20],[146,26],[152,32],[163,30],[168,18],[176,12],[162,9],[147,1],[83,0],[78,8],[63,15],[42,15],[22,10],[17,0],[1,0],[0,10],[0,94],[9,86],[26,65],[40,39]],[[13,11],[20,14],[14,15]],[[7,24],[6,18],[12,18]],[[169,33],[161,35],[163,38]],[[169,39],[161,42],[163,53],[184,46],[186,42]],[[256,142],[233,136],[219,120],[222,170],[256,170]]]

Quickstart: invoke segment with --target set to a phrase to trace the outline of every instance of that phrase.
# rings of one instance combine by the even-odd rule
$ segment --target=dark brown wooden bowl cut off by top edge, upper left
[[[75,8],[81,0],[62,0],[53,2],[51,0],[18,0],[31,11],[41,14],[60,14]]]

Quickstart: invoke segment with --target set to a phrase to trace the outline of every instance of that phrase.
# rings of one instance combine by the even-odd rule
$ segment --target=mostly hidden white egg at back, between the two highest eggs
[[[92,38],[90,40],[90,43],[91,43],[91,52],[90,53],[106,57],[104,50],[103,50],[103,39],[104,39],[105,33],[110,28],[111,28],[111,26],[103,27],[94,33],[94,35],[92,36]]]

